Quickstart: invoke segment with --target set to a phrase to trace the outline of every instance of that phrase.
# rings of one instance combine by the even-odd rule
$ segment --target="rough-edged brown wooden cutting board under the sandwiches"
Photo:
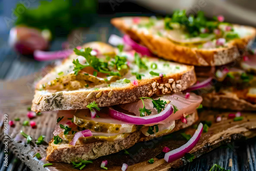
[[[44,158],[46,157],[47,142],[53,137],[52,133],[56,124],[56,112],[42,112],[40,116],[31,119],[36,121],[36,129],[32,129],[30,126],[22,126],[24,120],[29,120],[26,115],[27,108],[31,105],[34,94],[33,81],[35,78],[36,76],[33,75],[12,82],[0,81],[0,137],[4,139],[4,115],[8,115],[8,120],[14,120],[14,118],[19,117],[20,121],[14,121],[14,127],[8,127],[8,136],[10,139],[9,150],[20,158],[20,160],[25,162],[32,170],[78,170],[73,168],[72,164],[56,162],[53,163],[52,166],[46,168],[42,167],[42,165],[48,163]],[[201,121],[212,121],[212,125],[209,127],[207,133],[202,134],[199,143],[190,153],[193,153],[195,157],[198,158],[212,149],[232,140],[256,136],[256,113],[243,112],[242,115],[244,119],[242,121],[228,119],[227,115],[229,113],[228,111],[220,112],[209,110],[204,110],[199,113]],[[222,116],[221,122],[215,122],[217,115]],[[33,138],[32,143],[26,143],[25,138],[19,133],[20,130],[23,130]],[[121,151],[109,156],[103,156],[93,160],[93,163],[88,164],[85,168],[87,170],[103,170],[100,168],[102,160],[109,161],[107,166],[108,170],[120,170],[122,163],[129,164],[127,170],[172,170],[181,167],[189,161],[182,158],[173,163],[167,163],[159,154],[164,146],[175,149],[186,143],[186,140],[180,135],[182,132],[193,135],[195,129],[191,126],[185,130],[162,138],[148,142],[140,142],[127,149],[130,155],[124,154],[123,151]],[[46,142],[38,146],[35,144],[35,140],[40,135],[46,135]],[[36,153],[40,153],[42,160],[33,157]],[[151,158],[155,160],[153,164],[147,162]]]

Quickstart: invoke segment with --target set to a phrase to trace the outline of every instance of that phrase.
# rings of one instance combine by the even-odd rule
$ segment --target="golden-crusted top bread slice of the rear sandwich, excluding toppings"
[[[144,21],[150,20],[148,17],[138,18]],[[244,54],[256,35],[252,27],[233,25],[234,28],[243,29],[250,34],[228,41],[225,47],[202,49],[179,44],[159,35],[155,30],[136,27],[132,21],[133,17],[120,17],[113,18],[111,24],[159,57],[195,66],[221,66],[237,59]]]

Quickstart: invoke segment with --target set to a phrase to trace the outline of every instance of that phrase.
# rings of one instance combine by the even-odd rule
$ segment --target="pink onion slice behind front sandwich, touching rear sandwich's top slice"
[[[135,50],[136,52],[138,52],[142,55],[153,56],[153,54],[151,53],[151,51],[148,48],[137,44],[133,39],[131,39],[129,37],[129,35],[123,36],[123,42],[124,42],[124,44],[131,46],[133,50]]]

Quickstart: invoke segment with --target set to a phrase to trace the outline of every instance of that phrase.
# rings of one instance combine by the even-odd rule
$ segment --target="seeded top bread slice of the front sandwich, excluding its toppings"
[[[114,54],[112,47],[99,42],[86,44],[84,47],[92,47],[96,50],[98,50],[97,48],[100,48],[98,51],[102,54]],[[161,95],[181,92],[196,82],[193,66],[181,65],[179,63],[159,60],[158,58],[153,57],[143,57],[147,60],[146,65],[150,70],[138,71],[136,69],[136,65],[131,62],[130,70],[127,71],[125,75],[115,79],[114,81],[112,80],[112,82],[98,82],[97,84],[92,84],[91,87],[84,88],[84,84],[82,82],[84,80],[78,79],[79,74],[83,75],[83,73],[75,75],[74,72],[72,72],[74,68],[72,60],[76,58],[78,58],[77,55],[71,55],[62,63],[62,65],[54,68],[52,72],[39,81],[36,86],[31,110],[40,112],[87,109],[86,106],[93,101],[95,101],[100,107],[112,106],[133,102],[138,100],[139,97],[150,97],[154,94]],[[152,63],[155,63],[158,66],[156,70],[151,68]],[[65,70],[65,72],[63,72],[63,70]],[[165,75],[163,77],[151,75],[149,74],[151,70],[158,73],[164,73]],[[134,71],[143,74],[141,80],[136,79],[136,76],[133,75]],[[59,76],[60,72],[62,73],[61,77]],[[78,82],[78,84],[76,84],[78,85],[78,88],[72,87],[71,90],[69,90],[70,87],[68,87],[68,89],[63,89],[63,87],[61,87],[60,90],[57,88],[40,88],[41,84],[49,84],[48,82],[51,83],[56,77],[58,77],[58,79],[53,81],[64,81],[64,78],[67,76],[75,77],[76,80],[69,80],[69,82],[65,82],[65,84],[72,86],[73,82]],[[96,79],[93,75],[89,76]],[[129,79],[130,82],[124,82],[124,78]],[[64,84],[64,82],[62,82],[62,84]],[[62,84],[61,86],[63,86]]]

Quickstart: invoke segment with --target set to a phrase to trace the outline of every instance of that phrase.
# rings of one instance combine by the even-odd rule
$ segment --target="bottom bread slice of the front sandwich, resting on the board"
[[[187,118],[187,124],[181,122],[180,120],[176,120],[174,130],[163,135],[170,134],[175,131],[184,129],[185,127],[191,126],[197,120],[197,112],[189,115]],[[159,135],[157,137],[161,137],[163,135]],[[53,140],[51,140],[47,148],[46,160],[51,162],[66,163],[71,163],[71,161],[80,162],[80,159],[92,160],[101,156],[117,153],[123,149],[130,148],[139,141],[148,141],[153,138],[154,137],[145,137],[141,135],[140,131],[135,131],[126,138],[118,141],[95,141],[88,144],[74,146],[69,144],[56,145],[53,143]]]

